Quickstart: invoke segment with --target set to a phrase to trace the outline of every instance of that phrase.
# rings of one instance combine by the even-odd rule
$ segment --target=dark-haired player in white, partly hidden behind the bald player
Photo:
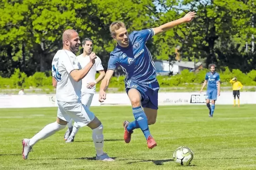
[[[85,67],[90,62],[90,54],[92,52],[93,47],[93,41],[90,38],[85,38],[82,41],[82,47],[83,47],[83,53],[79,56],[77,56],[78,61],[81,65],[81,67]],[[91,105],[91,101],[93,98],[93,95],[96,93],[96,84],[100,82],[104,76],[105,71],[101,64],[101,60],[98,56],[95,59],[95,64],[91,67],[90,71],[87,73],[87,75],[82,79],[82,89],[81,89],[81,101],[84,105],[87,106],[89,109]],[[100,75],[97,79],[95,79],[96,72],[99,71]],[[69,142],[74,142],[74,137],[78,130],[80,129],[79,125],[75,122],[74,126],[72,126],[73,120],[71,119],[68,122],[68,129],[64,135],[64,140]]]

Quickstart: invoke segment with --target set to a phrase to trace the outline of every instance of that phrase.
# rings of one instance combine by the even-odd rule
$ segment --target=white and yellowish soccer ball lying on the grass
[[[173,152],[173,160],[177,165],[189,166],[193,157],[193,152],[186,146],[180,146]]]

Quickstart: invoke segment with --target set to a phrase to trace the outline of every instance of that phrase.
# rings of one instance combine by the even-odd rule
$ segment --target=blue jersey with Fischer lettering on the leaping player
[[[129,35],[128,47],[124,48],[117,44],[110,53],[107,69],[115,70],[117,65],[120,65],[126,73],[125,83],[128,80],[145,84],[156,81],[155,64],[146,47],[146,42],[154,35],[152,28],[133,31]]]

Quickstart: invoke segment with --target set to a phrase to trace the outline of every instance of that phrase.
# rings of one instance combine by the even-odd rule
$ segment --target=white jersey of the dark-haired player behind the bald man
[[[84,68],[90,62],[90,57],[88,55],[84,57],[83,54],[81,54],[77,56],[77,58],[82,68]],[[88,89],[87,84],[90,82],[94,82],[96,80],[95,79],[96,71],[99,71],[99,70],[104,70],[104,68],[101,64],[101,59],[97,56],[97,58],[95,59],[95,64],[93,64],[90,71],[82,79],[82,89],[81,89],[82,95],[85,93],[96,93],[96,85],[91,89]]]

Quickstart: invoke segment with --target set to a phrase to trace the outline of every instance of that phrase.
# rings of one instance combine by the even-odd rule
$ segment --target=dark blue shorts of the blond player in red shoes
[[[131,88],[137,89],[141,94],[141,106],[151,108],[151,109],[158,109],[158,90],[159,90],[159,83],[158,81],[154,81],[150,84],[142,84],[135,81],[127,81],[125,83],[125,90],[128,94],[128,91]]]

